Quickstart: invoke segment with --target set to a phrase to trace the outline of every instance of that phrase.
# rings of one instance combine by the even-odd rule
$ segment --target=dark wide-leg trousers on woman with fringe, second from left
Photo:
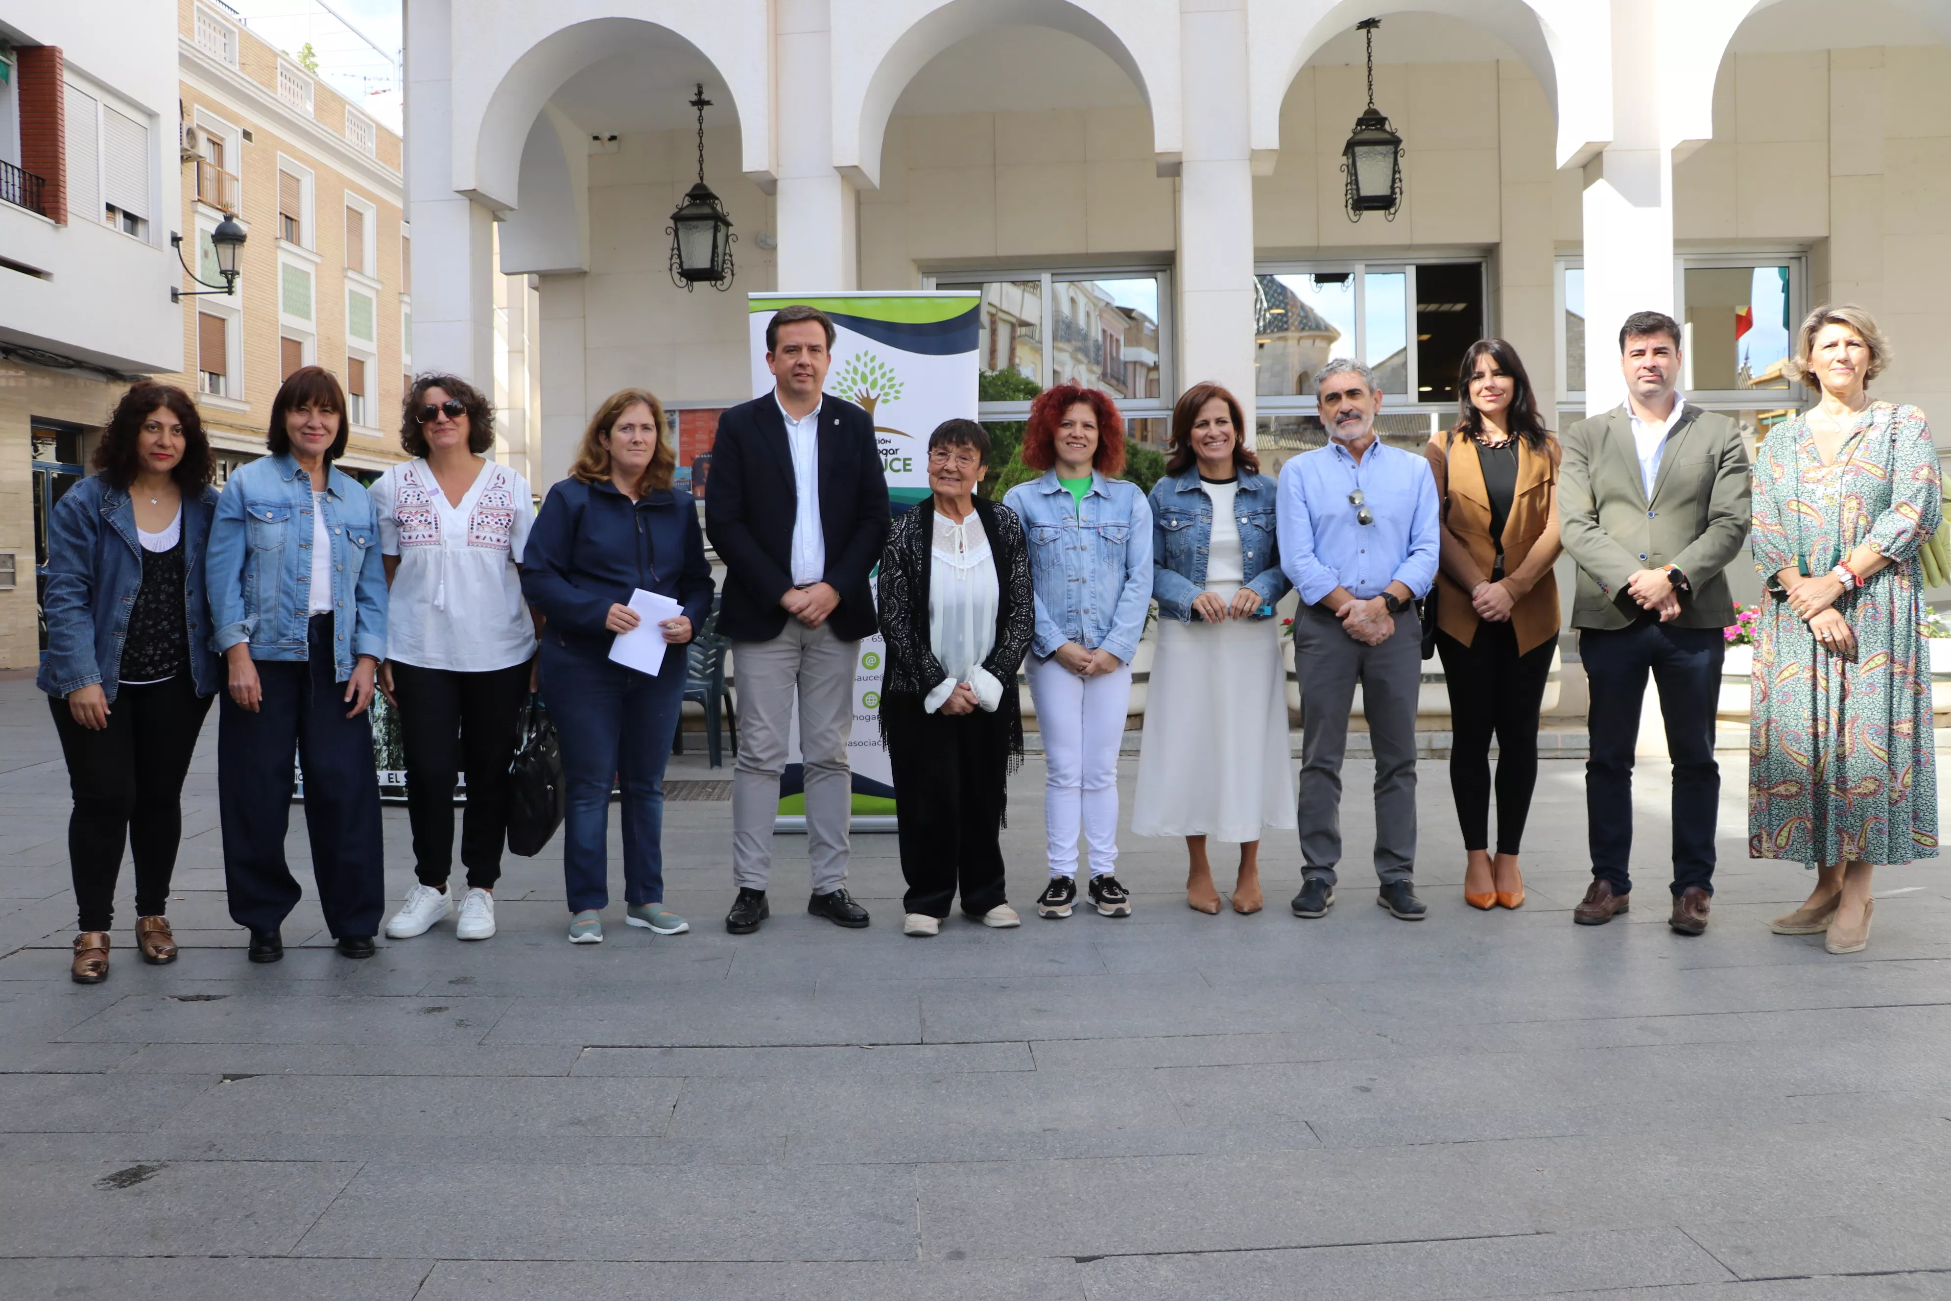
[[[304,767],[304,829],[312,880],[332,938],[378,934],[378,772],[373,716],[345,718],[345,683],[334,681],[332,616],[312,618],[312,657],[259,659],[263,698],[248,714],[224,692],[217,714],[217,802],[224,825],[230,921],[275,930],[304,891],[285,862],[291,829],[291,757]]]

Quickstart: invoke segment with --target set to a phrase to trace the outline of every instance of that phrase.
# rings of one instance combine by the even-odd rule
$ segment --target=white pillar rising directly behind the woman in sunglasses
[[[494,382],[494,222],[453,189],[453,0],[406,12],[406,193],[414,222],[414,365]]]

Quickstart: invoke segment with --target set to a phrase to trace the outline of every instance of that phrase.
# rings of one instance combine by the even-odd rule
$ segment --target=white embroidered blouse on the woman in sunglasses
[[[529,544],[529,482],[488,460],[458,505],[423,458],[367,488],[378,546],[398,556],[386,599],[386,657],[419,669],[488,673],[535,653],[535,624],[515,566]]]

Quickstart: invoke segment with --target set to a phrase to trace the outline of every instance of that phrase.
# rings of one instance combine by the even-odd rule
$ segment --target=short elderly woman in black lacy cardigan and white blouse
[[[931,497],[894,521],[880,556],[888,667],[880,735],[907,878],[903,934],[940,934],[962,913],[1016,926],[1003,887],[1003,808],[1022,759],[1016,667],[1036,630],[1022,521],[976,495],[989,433],[950,419],[929,435]]]

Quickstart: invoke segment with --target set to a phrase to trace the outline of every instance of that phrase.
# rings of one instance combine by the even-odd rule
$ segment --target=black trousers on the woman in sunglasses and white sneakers
[[[460,866],[468,886],[494,889],[507,843],[507,765],[529,694],[529,663],[488,673],[421,669],[392,661],[406,745],[406,817],[414,827],[414,876],[447,886],[455,862],[455,772],[468,776],[460,817]]]

